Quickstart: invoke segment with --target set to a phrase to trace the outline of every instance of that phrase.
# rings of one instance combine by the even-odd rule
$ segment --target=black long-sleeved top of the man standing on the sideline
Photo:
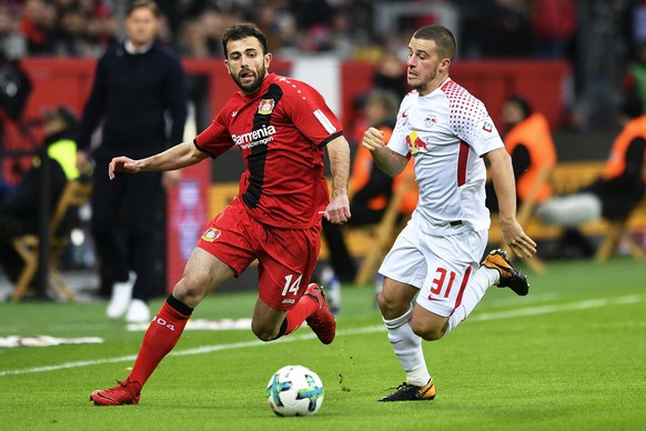
[[[77,144],[87,151],[94,129],[103,121],[95,158],[154,154],[182,141],[186,101],[186,79],[174,54],[157,42],[141,54],[131,54],[119,43],[99,60]],[[166,112],[172,120],[168,136]]]

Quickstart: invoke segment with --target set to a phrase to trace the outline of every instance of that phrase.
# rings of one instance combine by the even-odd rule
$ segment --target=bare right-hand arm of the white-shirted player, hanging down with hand
[[[491,166],[492,181],[498,198],[503,238],[515,254],[532,258],[536,254],[536,242],[529,238],[516,220],[516,183],[512,158],[504,148],[485,154]]]

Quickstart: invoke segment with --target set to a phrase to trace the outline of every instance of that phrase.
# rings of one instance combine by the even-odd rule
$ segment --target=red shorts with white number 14
[[[238,198],[204,229],[198,247],[231,267],[236,277],[259,262],[259,295],[290,310],[305,292],[321,249],[321,225],[281,229],[248,214]]]

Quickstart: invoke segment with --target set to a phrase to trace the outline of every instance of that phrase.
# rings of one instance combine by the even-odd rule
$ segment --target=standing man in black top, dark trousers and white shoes
[[[144,158],[182,141],[186,120],[186,79],[179,59],[155,42],[160,11],[153,1],[137,0],[128,9],[124,42],[99,60],[79,132],[79,168],[90,151],[95,163],[92,234],[101,264],[113,279],[108,317],[125,313],[127,321],[150,320],[148,300],[154,275],[155,209],[162,183],[173,186],[178,172],[150,172],[134,180],[121,176],[110,182],[105,171],[122,153]],[[172,120],[166,136],[164,116]],[[91,137],[102,121],[101,143]],[[119,230],[119,216],[128,241]]]

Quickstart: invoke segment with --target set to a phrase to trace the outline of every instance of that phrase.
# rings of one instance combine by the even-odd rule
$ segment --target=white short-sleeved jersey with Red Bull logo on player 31
[[[413,219],[423,232],[488,229],[482,156],[504,144],[482,101],[450,78],[430,94],[413,90],[387,146],[414,158],[420,199]]]

